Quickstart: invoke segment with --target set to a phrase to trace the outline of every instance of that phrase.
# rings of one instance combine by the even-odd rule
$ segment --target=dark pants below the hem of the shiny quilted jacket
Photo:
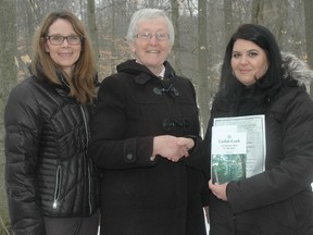
[[[46,235],[97,235],[99,211],[89,218],[45,218]]]

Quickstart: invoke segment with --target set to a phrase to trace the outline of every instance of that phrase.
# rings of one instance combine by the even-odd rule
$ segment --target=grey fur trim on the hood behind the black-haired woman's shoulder
[[[308,63],[297,58],[290,52],[281,52],[284,78],[292,77],[298,82],[298,85],[310,86],[313,81],[313,71]]]

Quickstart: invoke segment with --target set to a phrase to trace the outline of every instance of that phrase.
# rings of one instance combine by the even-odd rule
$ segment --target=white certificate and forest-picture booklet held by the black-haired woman
[[[227,136],[233,136],[229,141],[238,144],[233,145],[233,152],[231,145],[229,145],[230,147],[221,146],[222,140],[220,143],[216,140],[224,139],[225,144],[225,141],[227,143]],[[262,114],[214,119],[211,144],[213,181],[216,180],[218,174],[217,178],[224,178],[220,183],[259,174],[265,170],[265,116]],[[245,152],[242,151],[243,144],[246,145]],[[243,173],[240,172],[239,166],[241,166],[241,171],[245,171]]]

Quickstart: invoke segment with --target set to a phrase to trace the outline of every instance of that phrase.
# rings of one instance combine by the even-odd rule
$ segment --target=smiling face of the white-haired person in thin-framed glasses
[[[139,22],[137,35],[130,45],[138,63],[158,75],[171,52],[168,27],[162,17]]]

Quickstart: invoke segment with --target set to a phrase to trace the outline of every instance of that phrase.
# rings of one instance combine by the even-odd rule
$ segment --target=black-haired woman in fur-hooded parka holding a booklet
[[[281,57],[283,55],[283,57]],[[280,53],[272,33],[243,24],[230,38],[203,149],[211,158],[215,118],[265,115],[265,171],[209,182],[210,234],[313,234],[313,72]]]

